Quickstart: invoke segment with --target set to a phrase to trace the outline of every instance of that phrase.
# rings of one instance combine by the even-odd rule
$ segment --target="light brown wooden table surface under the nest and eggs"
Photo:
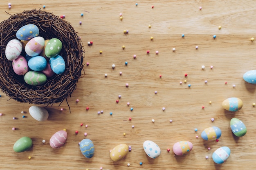
[[[7,20],[9,14],[30,9],[65,15],[64,20],[70,22],[83,41],[84,63],[90,64],[85,64],[77,89],[67,98],[71,113],[67,102],[60,106],[56,103],[46,107],[49,118],[44,122],[30,116],[31,104],[9,100],[0,92],[0,112],[3,114],[0,116],[0,169],[255,168],[256,107],[252,104],[256,102],[256,86],[243,80],[245,72],[256,69],[256,43],[251,41],[256,37],[255,1],[1,0],[0,21]],[[120,13],[123,20],[119,19]],[[124,34],[124,30],[129,33]],[[93,41],[93,45],[88,46],[88,41]],[[186,78],[185,73],[188,74]],[[204,83],[206,80],[208,82]],[[230,97],[243,100],[240,111],[231,113],[222,108],[222,101]],[[86,111],[86,107],[90,109]],[[103,113],[98,115],[98,111]],[[22,118],[23,115],[26,118]],[[215,118],[214,122],[211,118]],[[233,135],[231,118],[244,122],[245,136]],[[219,142],[201,138],[202,131],[210,126],[221,129]],[[62,129],[67,129],[67,141],[61,148],[51,148],[50,137]],[[75,131],[79,133],[76,135]],[[88,133],[86,137],[85,132]],[[13,144],[23,136],[30,137],[33,146],[28,151],[15,153]],[[79,149],[79,142],[84,138],[94,143],[95,154],[91,159],[85,158]],[[142,146],[146,140],[161,148],[157,159],[145,154]],[[175,156],[173,144],[182,140],[192,142],[193,150],[187,155]],[[125,159],[114,162],[109,151],[118,144],[131,146],[132,151]],[[228,146],[231,155],[227,162],[218,165],[211,157],[221,146]]]

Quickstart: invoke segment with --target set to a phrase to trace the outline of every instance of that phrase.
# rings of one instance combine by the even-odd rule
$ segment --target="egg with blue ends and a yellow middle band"
[[[216,140],[221,136],[221,130],[217,126],[211,126],[209,128],[204,129],[201,133],[201,137],[204,140]]]

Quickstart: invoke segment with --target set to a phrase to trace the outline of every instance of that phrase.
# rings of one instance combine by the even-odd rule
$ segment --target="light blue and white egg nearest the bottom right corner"
[[[223,163],[229,158],[230,149],[227,146],[222,146],[214,151],[212,154],[212,159],[215,163]]]

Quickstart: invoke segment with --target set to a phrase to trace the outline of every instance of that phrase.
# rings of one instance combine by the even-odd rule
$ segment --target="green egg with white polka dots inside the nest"
[[[57,38],[52,38],[45,46],[45,55],[49,58],[56,57],[61,52],[62,42]]]

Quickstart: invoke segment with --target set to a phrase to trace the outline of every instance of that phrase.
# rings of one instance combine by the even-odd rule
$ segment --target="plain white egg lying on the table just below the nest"
[[[48,111],[44,107],[40,106],[29,107],[29,114],[37,121],[45,121],[49,117]]]

